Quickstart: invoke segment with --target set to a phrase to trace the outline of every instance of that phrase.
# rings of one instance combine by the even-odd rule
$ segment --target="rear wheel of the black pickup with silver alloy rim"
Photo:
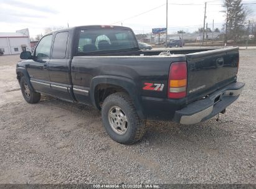
[[[120,108],[119,111],[118,108]],[[139,118],[130,97],[126,93],[110,94],[104,100],[102,121],[111,139],[121,144],[138,142],[146,132],[145,122]],[[122,126],[120,123],[123,123]],[[118,128],[118,126],[120,127]]]

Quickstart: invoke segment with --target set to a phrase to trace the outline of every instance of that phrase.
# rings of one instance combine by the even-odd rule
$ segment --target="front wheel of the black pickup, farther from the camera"
[[[36,104],[40,101],[41,94],[37,93],[31,88],[25,76],[22,76],[19,85],[21,86],[21,93],[23,98],[27,101],[27,103]]]

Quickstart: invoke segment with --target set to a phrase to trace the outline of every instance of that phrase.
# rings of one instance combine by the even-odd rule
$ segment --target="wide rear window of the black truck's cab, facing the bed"
[[[86,29],[79,31],[78,54],[134,50],[136,39],[126,29]]]

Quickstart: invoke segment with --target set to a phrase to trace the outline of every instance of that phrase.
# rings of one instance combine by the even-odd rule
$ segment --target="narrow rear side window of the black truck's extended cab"
[[[69,32],[60,32],[55,35],[54,47],[52,50],[52,58],[54,59],[65,58],[68,37],[69,37]]]

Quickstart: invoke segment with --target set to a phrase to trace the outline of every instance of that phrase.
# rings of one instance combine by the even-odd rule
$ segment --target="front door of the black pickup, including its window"
[[[43,37],[34,51],[34,58],[27,65],[27,71],[31,76],[31,84],[36,91],[49,93],[50,76],[49,60],[52,46],[52,34]]]

